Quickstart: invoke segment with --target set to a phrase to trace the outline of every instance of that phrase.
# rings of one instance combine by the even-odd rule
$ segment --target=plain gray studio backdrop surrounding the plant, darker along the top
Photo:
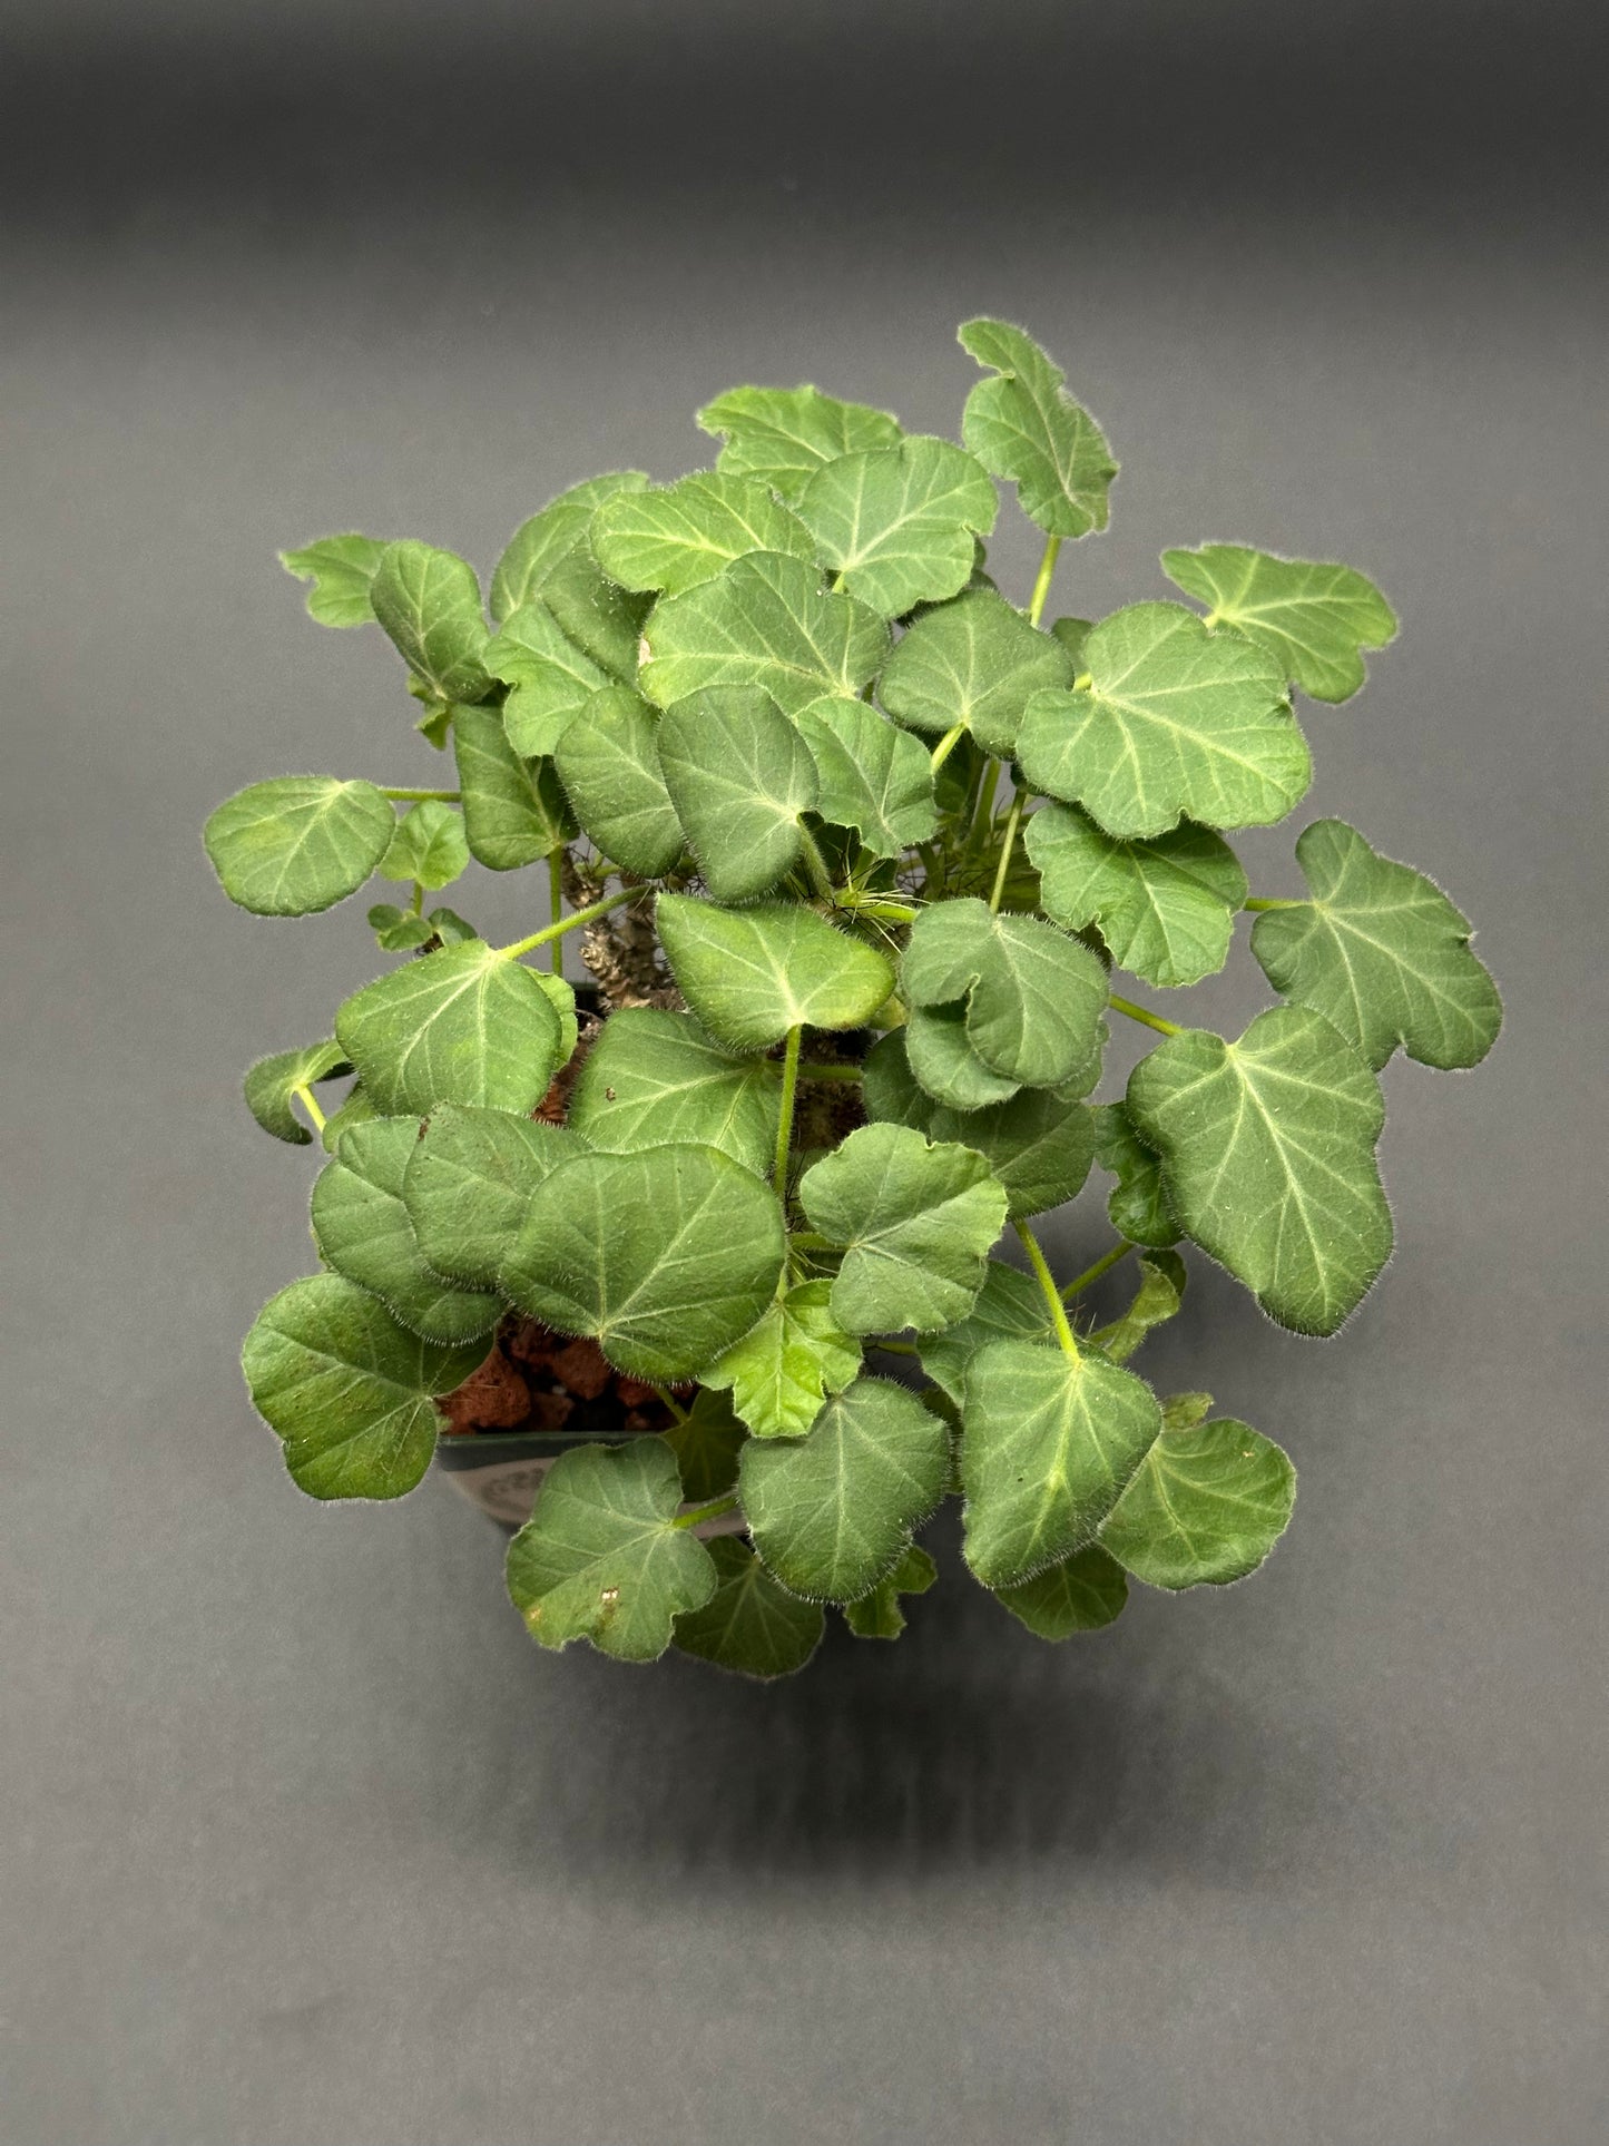
[[[0,2133],[1596,2142],[1592,17],[219,13],[0,13]],[[1152,1348],[1298,1459],[1249,1586],[1053,1650],[940,1530],[901,1646],[774,1691],[545,1657],[444,1483],[315,1511],[240,1391],[313,1165],[238,1069],[373,955],[358,908],[230,910],[197,831],[268,773],[438,779],[272,554],[489,562],[577,476],[699,461],[744,378],[953,429],[974,311],[1124,459],[1062,607],[1208,536],[1384,582],[1405,633],[1311,710],[1298,820],[1450,886],[1508,1032],[1390,1069],[1399,1251],[1343,1339],[1199,1273]],[[1023,588],[1028,534],[995,560]],[[1051,1238],[1098,1251],[1098,1202]]]

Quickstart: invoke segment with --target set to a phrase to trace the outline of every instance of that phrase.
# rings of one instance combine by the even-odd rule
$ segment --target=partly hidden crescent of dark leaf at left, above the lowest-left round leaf
[[[313,1185],[313,1243],[326,1266],[384,1296],[427,1341],[472,1341],[502,1318],[502,1296],[453,1288],[420,1258],[403,1206],[403,1172],[418,1146],[414,1118],[371,1118],[341,1135]]]

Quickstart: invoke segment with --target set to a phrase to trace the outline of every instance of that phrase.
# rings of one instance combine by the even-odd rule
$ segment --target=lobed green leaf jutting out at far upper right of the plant
[[[1354,567],[1204,543],[1163,552],[1163,573],[1206,603],[1214,624],[1268,648],[1313,700],[1349,700],[1364,680],[1362,650],[1397,640],[1397,614]]]

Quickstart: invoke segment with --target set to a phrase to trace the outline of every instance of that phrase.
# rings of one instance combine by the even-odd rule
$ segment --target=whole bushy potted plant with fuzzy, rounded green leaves
[[[313,1498],[397,1498],[440,1451],[523,1522],[543,1646],[777,1676],[830,1605],[892,1637],[955,1494],[972,1575],[1043,1637],[1128,1579],[1244,1577],[1289,1459],[1131,1361],[1186,1247],[1332,1335],[1392,1243],[1379,1069],[1497,1034],[1422,873],[1315,820],[1302,886],[1253,893],[1227,841],[1302,803],[1291,697],[1362,687],[1397,633],[1373,582],[1208,543],[1163,554],[1167,599],[1047,620],[1116,464],[1021,328],[961,343],[965,446],[747,386],[699,412],[712,470],[575,485],[487,592],[412,539],[285,554],[313,618],[390,640],[457,781],[294,775],[208,820],[255,914],[408,891],[333,1034],[247,1075],[328,1155],[320,1273],[260,1313],[247,1384]],[[987,571],[998,479],[1045,532],[1025,605]],[[534,867],[547,918],[487,944],[440,899],[470,858]],[[1274,1004],[1227,1039],[1161,1013],[1246,914]],[[1092,1103],[1113,1017],[1156,1043]],[[1058,1277],[1032,1223],[1092,1167],[1116,1243]]]

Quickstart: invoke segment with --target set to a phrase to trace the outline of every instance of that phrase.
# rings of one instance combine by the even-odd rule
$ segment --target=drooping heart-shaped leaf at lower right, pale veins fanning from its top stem
[[[1010,1588],[1094,1539],[1163,1414],[1150,1386],[1092,1350],[991,1341],[961,1401],[965,1556]]]

